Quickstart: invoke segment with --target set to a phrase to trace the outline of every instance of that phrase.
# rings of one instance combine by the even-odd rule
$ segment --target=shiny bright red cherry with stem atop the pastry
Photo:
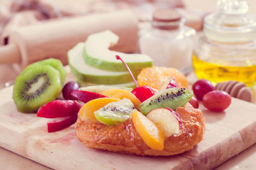
[[[132,90],[132,94],[134,94],[141,102],[147,100],[149,97],[155,94],[154,90],[149,86],[140,86],[136,87]]]

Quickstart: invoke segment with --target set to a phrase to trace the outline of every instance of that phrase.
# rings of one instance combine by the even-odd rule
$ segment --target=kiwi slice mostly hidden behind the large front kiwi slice
[[[31,69],[32,67],[38,67],[38,66],[42,66],[42,65],[49,65],[49,66],[52,66],[55,69],[57,69],[60,72],[61,85],[64,85],[65,78],[67,76],[67,71],[63,67],[63,64],[61,63],[61,61],[58,59],[50,58],[50,59],[45,59],[45,60],[40,60],[38,62],[34,62],[33,64],[30,64],[29,66],[27,66],[24,69],[24,71],[27,71],[27,70]]]

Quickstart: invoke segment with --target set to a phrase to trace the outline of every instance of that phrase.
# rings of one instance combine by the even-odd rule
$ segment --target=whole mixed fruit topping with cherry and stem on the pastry
[[[116,59],[122,60],[119,56]],[[72,92],[71,95],[76,99],[87,102],[79,111],[79,117],[89,123],[99,121],[106,125],[118,125],[131,118],[147,146],[163,150],[164,140],[180,133],[182,122],[173,110],[188,103],[193,92],[177,87],[173,78],[156,94],[151,87],[138,87],[129,67],[123,60],[122,62],[131,74],[136,88],[132,92],[124,89],[108,89],[100,94],[84,90]]]

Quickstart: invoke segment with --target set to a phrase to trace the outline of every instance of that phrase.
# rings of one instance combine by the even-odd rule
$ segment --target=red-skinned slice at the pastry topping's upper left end
[[[108,97],[103,94],[88,92],[84,90],[75,90],[71,93],[71,96],[75,97],[77,100],[83,103],[88,103],[88,101],[92,101],[93,99],[98,99],[101,97]]]

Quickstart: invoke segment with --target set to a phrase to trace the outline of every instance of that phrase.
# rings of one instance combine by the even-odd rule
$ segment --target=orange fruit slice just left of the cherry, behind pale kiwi
[[[109,89],[101,92],[100,94],[103,94],[108,97],[118,98],[118,99],[124,99],[124,98],[130,99],[135,107],[141,104],[141,101],[134,94],[124,89]]]

